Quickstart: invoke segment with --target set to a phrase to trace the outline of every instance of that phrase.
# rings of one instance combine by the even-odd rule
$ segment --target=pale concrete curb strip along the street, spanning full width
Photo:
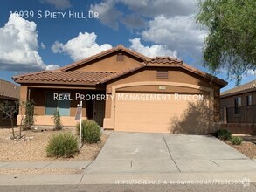
[[[0,175],[2,185],[82,184],[242,184],[256,182],[255,172],[85,173],[77,175]]]

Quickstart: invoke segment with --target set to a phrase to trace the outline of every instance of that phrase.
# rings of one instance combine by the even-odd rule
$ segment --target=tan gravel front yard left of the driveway
[[[75,133],[75,129],[66,128],[61,131],[47,130],[23,131],[26,141],[14,141],[10,139],[11,129],[0,128],[0,162],[4,161],[87,161],[93,160],[99,154],[100,149],[107,141],[108,134],[102,134],[101,140],[94,144],[84,144],[79,154],[73,158],[50,158],[46,156],[45,147],[49,137],[59,132]],[[18,128],[15,128],[18,134]]]

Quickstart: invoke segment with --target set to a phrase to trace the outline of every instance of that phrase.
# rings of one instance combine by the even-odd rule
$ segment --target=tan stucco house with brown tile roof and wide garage
[[[185,134],[214,131],[219,90],[227,84],[182,60],[148,58],[122,45],[54,71],[13,79],[21,84],[21,99],[36,103],[38,126],[52,126],[57,109],[63,125],[74,126],[84,96],[83,117],[106,129]]]

